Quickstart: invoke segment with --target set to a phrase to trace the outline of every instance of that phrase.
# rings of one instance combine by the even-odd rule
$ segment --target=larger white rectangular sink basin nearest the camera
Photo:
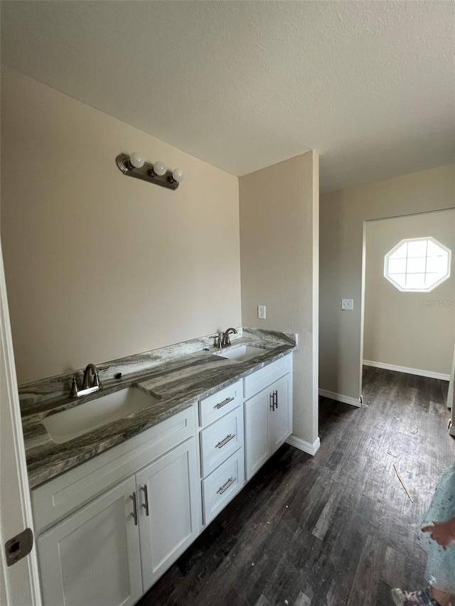
[[[79,435],[92,431],[111,421],[124,418],[131,413],[151,406],[156,398],[140,389],[128,387],[114,391],[113,394],[79,404],[66,411],[50,414],[41,419],[50,437],[57,444],[73,440]]]

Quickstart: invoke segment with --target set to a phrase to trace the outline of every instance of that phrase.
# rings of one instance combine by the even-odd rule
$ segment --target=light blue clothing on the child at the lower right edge
[[[454,516],[455,464],[449,467],[439,480],[422,526],[433,524],[434,521],[447,521]],[[455,544],[444,549],[429,536],[429,533],[421,533],[419,540],[428,556],[427,583],[441,591],[455,594]]]

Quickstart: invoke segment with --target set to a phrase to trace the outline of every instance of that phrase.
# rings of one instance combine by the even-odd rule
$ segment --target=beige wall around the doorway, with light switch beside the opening
[[[455,165],[321,196],[320,387],[357,399],[362,359],[363,222],[454,207]],[[354,310],[341,311],[341,298]]]

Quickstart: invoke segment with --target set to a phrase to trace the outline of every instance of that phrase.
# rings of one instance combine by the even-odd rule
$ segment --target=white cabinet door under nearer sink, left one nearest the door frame
[[[142,595],[134,477],[38,539],[45,606],[129,606]]]

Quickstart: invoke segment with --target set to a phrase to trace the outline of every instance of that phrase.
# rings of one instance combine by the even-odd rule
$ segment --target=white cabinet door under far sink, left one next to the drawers
[[[245,402],[245,469],[247,480],[270,456],[269,408],[271,391],[264,389]]]

